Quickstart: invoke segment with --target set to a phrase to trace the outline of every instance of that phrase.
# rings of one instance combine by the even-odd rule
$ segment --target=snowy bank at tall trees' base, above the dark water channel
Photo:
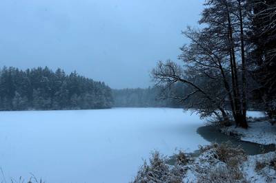
[[[271,125],[268,121],[251,121],[248,125],[248,129],[235,127],[235,125],[224,127],[221,132],[229,136],[237,136],[247,142],[276,144],[276,125]]]

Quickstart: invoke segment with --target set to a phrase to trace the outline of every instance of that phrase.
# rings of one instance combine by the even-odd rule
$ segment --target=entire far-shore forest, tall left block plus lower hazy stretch
[[[168,97],[183,96],[184,91],[183,85],[172,85],[170,89],[110,89],[77,72],[53,72],[48,67],[0,69],[0,111],[184,107],[181,100]]]

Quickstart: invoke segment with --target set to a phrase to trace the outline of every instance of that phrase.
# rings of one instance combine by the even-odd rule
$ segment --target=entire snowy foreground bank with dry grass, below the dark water
[[[144,163],[133,182],[273,182],[276,180],[276,152],[246,155],[229,142],[199,147],[196,158],[180,151],[174,166],[167,158],[152,153],[150,163]],[[262,166],[258,164],[264,164]],[[259,166],[259,169],[256,167]]]

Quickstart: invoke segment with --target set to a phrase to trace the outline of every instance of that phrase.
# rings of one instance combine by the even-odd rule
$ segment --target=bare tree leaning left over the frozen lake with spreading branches
[[[166,63],[159,62],[157,67],[152,70],[152,76],[157,83],[162,83],[165,88],[175,83],[188,85],[189,89],[186,91],[188,93],[184,96],[169,97],[185,101],[186,107],[195,109],[195,111],[201,114],[201,117],[215,114],[218,118],[222,116],[222,122],[228,123],[228,114],[223,107],[224,101],[222,101],[224,97],[221,97],[221,93],[223,92],[218,89],[219,87],[216,87],[217,91],[214,92],[215,89],[212,85],[208,84],[208,82],[203,82],[205,76],[202,74],[195,75],[193,72],[195,72],[194,69],[188,68],[184,70],[176,63],[167,61]],[[213,84],[217,83],[214,82]]]

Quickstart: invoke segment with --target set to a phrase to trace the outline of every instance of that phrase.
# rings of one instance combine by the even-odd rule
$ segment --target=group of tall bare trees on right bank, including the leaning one
[[[190,39],[179,56],[184,67],[172,61],[159,63],[152,75],[157,83],[190,86],[190,94],[182,100],[194,96],[189,101],[202,116],[221,115],[227,121],[230,108],[236,125],[247,128],[245,5],[242,0],[206,1],[199,21],[205,28],[183,32]]]

